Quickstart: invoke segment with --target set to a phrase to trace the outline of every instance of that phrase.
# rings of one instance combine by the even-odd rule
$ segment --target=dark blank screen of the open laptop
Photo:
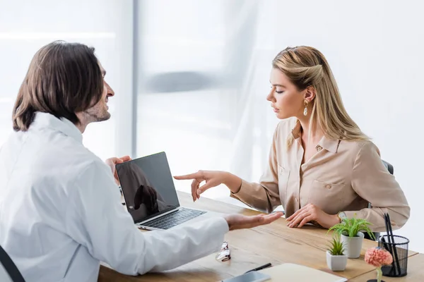
[[[179,207],[165,152],[126,161],[116,168],[134,223]]]

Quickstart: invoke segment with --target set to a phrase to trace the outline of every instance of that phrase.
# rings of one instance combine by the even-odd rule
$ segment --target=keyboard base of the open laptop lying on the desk
[[[206,212],[196,209],[178,209],[175,212],[171,212],[165,216],[160,216],[157,219],[153,219],[141,225],[160,229],[169,229],[185,221],[194,219],[196,216],[201,216],[204,213]]]

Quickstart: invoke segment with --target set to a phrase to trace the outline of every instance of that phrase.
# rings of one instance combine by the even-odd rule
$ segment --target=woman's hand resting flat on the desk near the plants
[[[286,219],[288,221],[288,227],[302,227],[310,221],[317,222],[320,226],[324,228],[331,228],[332,226],[340,223],[337,214],[326,214],[322,209],[315,206],[314,204],[307,204],[302,209],[299,209],[298,212],[292,214],[292,216]]]

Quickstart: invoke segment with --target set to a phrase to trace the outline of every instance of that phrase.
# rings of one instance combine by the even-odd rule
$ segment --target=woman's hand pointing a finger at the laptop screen
[[[187,174],[185,176],[174,176],[177,180],[193,180],[192,181],[192,197],[193,202],[198,200],[201,193],[205,192],[209,188],[216,187],[220,184],[225,184],[230,188],[232,192],[237,192],[240,189],[241,179],[231,173],[225,171],[197,171],[196,173]],[[206,181],[204,185],[199,185]],[[238,187],[235,187],[233,183],[240,183]]]

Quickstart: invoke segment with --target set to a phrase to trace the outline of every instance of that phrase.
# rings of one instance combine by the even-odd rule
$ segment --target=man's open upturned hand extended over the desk
[[[283,212],[274,212],[272,214],[259,214],[257,216],[243,216],[242,214],[230,214],[225,216],[230,230],[253,228],[269,224],[283,216]]]

